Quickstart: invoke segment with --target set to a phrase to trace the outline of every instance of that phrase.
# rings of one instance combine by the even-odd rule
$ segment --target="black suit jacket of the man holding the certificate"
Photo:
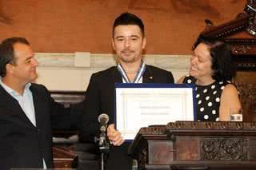
[[[146,65],[142,81],[143,83],[174,83],[174,77],[164,69]],[[94,73],[90,77],[81,123],[80,139],[82,141],[94,142],[94,136],[99,134],[98,116],[101,113],[109,115],[109,124],[114,123],[114,84],[117,82],[122,83],[122,76],[116,66]],[[127,154],[128,146],[127,143],[119,147],[111,145],[107,159],[108,170],[131,168],[132,159]]]

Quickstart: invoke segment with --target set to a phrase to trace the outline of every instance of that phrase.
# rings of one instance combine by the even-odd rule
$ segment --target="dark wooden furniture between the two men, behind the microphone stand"
[[[55,129],[53,131],[54,137],[61,137],[61,139],[54,138],[55,168],[98,169],[97,148],[94,144],[78,142],[78,125],[83,113],[82,101],[85,94],[85,91],[50,91],[54,101],[70,108],[70,118],[68,120],[70,121],[71,117],[73,120],[70,129]],[[65,140],[62,140],[63,138]]]

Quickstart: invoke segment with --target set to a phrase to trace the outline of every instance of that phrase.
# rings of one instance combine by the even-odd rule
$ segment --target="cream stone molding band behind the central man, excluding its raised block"
[[[116,65],[115,55],[110,53],[90,53],[90,67],[76,67],[75,53],[35,53],[39,67],[70,67],[81,69],[106,69]],[[190,55],[146,54],[144,60],[149,65],[163,69],[188,69]]]

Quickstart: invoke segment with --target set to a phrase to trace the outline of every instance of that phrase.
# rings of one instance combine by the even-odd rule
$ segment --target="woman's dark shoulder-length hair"
[[[214,38],[203,38],[199,36],[192,49],[194,50],[200,43],[207,45],[209,48],[213,79],[215,81],[231,81],[235,74],[235,68],[230,45]]]

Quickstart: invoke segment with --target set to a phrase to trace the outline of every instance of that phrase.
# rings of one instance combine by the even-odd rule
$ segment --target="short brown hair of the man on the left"
[[[0,44],[0,76],[6,76],[6,65],[7,64],[15,64],[16,58],[14,56],[14,44],[21,43],[30,45],[30,42],[26,40],[26,38],[6,38]]]

